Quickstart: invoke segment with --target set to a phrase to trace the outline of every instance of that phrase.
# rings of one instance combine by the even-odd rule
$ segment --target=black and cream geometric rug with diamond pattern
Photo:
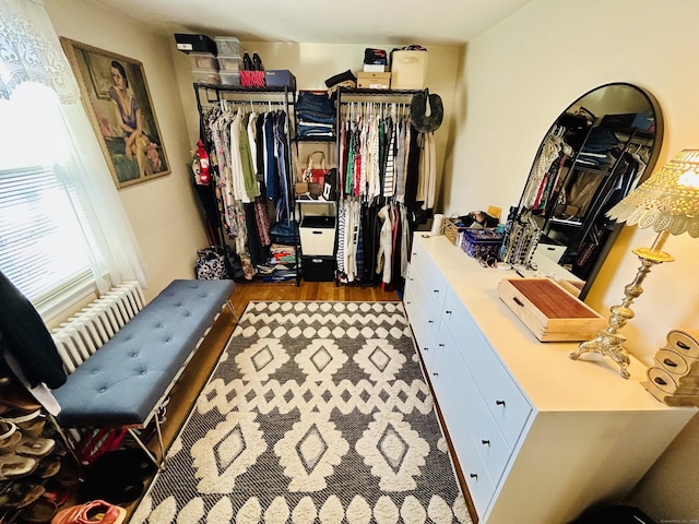
[[[131,524],[470,523],[401,302],[248,305]]]

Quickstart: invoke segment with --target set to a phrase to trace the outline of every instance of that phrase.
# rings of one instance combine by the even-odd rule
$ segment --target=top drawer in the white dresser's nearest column
[[[471,314],[451,291],[445,302],[445,326],[471,371],[505,440],[514,449],[532,406],[473,322]]]

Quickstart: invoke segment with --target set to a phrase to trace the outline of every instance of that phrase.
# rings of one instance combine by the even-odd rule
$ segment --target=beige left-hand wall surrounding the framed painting
[[[149,269],[150,299],[174,278],[193,278],[197,250],[208,243],[187,165],[191,145],[170,61],[174,40],[92,2],[45,3],[59,36],[143,63],[173,172],[121,189],[119,198]]]

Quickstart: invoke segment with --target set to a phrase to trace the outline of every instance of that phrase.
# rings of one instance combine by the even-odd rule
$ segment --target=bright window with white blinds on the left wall
[[[71,157],[56,93],[24,83],[0,99],[0,270],[40,312],[95,288],[94,234],[64,176]]]

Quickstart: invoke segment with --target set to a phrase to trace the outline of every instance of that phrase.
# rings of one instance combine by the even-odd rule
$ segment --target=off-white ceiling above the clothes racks
[[[531,0],[93,0],[163,33],[323,44],[465,44]]]

